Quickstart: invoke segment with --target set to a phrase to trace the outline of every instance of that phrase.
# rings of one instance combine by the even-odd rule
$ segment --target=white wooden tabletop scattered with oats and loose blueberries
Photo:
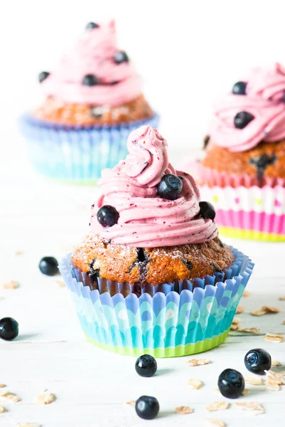
[[[0,414],[1,427],[19,422],[58,427],[133,427],[205,426],[207,418],[217,418],[229,427],[284,426],[285,386],[281,391],[266,391],[264,386],[249,386],[241,401],[259,401],[265,413],[250,416],[232,407],[208,413],[205,407],[225,400],[215,393],[217,376],[232,367],[249,374],[244,354],[254,347],[267,349],[285,365],[285,341],[264,341],[266,332],[285,334],[285,245],[230,241],[256,263],[249,282],[249,297],[242,297],[246,312],[239,317],[241,326],[260,327],[252,336],[231,332],[226,342],[207,354],[211,364],[188,367],[185,360],[158,359],[157,374],[144,379],[134,370],[135,359],[104,352],[88,343],[81,332],[68,290],[60,288],[55,278],[38,270],[45,255],[70,251],[87,232],[89,209],[97,190],[93,187],[60,186],[27,172],[22,154],[14,166],[1,164],[0,283],[16,280],[19,288],[0,288],[0,317],[11,316],[19,322],[19,336],[14,342],[0,340],[0,383],[21,397],[16,404],[0,404],[8,411]],[[16,251],[23,251],[16,255]],[[250,310],[272,305],[281,312],[253,317]],[[284,367],[285,371],[285,367]],[[188,379],[198,378],[205,386],[192,390]],[[46,406],[35,404],[45,389],[56,396]],[[3,391],[5,389],[2,389]],[[154,421],[136,416],[126,405],[143,394],[156,396],[161,411]],[[190,415],[176,414],[176,406],[189,405]]]

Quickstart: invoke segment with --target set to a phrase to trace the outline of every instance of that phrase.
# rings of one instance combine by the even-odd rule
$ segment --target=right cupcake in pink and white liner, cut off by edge
[[[233,85],[187,170],[215,202],[221,234],[285,241],[285,68],[254,68]]]

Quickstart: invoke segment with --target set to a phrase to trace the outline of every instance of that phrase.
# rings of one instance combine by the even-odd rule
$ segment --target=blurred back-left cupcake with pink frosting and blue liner
[[[127,136],[158,116],[142,80],[117,47],[114,21],[90,22],[52,72],[39,75],[43,104],[21,117],[31,159],[41,174],[63,181],[97,181],[127,155]]]

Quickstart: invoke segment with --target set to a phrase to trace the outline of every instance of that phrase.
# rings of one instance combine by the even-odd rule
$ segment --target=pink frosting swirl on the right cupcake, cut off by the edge
[[[244,82],[246,95],[230,93],[217,102],[209,129],[213,143],[232,152],[285,137],[285,68],[279,63],[270,68],[254,68]],[[254,119],[243,129],[237,129],[234,118],[242,111],[249,112]]]

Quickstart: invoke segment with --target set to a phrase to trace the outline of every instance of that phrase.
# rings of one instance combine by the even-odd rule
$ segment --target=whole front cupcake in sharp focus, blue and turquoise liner
[[[90,233],[60,263],[82,330],[97,347],[174,357],[225,340],[253,264],[218,237],[211,204],[168,162],[166,140],[134,130],[98,182]]]

